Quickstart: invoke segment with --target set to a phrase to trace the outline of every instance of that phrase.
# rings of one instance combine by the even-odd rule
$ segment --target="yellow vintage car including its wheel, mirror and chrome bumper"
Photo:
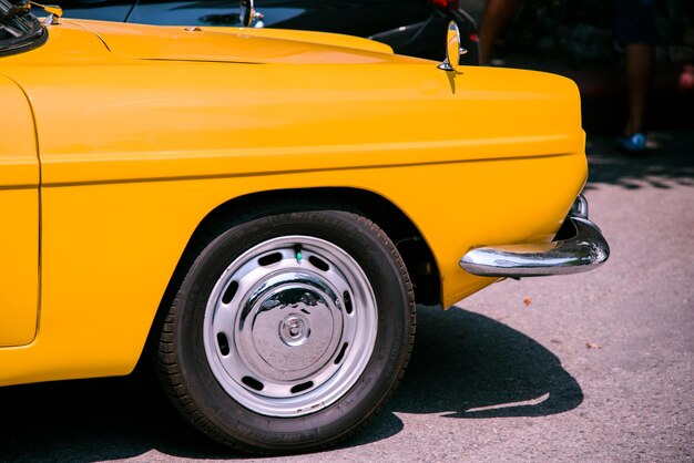
[[[351,37],[40,21],[0,0],[0,385],[151,356],[255,452],[364,426],[416,301],[595,268],[568,79]]]

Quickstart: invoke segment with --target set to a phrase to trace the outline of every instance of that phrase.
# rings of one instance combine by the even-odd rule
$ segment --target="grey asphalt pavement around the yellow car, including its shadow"
[[[228,453],[135,374],[0,389],[0,461],[692,462],[694,131],[652,141],[627,160],[589,136],[608,264],[420,307],[396,398],[338,449]]]

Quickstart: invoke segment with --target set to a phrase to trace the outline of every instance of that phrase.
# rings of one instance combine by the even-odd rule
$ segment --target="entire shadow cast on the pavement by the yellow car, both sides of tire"
[[[404,424],[394,412],[539,416],[582,402],[581,388],[559,359],[506,325],[459,308],[420,306],[418,317],[415,351],[395,399],[343,447],[399,433]],[[88,462],[153,450],[177,457],[247,457],[194,431],[145,373],[1,388],[0,461]]]

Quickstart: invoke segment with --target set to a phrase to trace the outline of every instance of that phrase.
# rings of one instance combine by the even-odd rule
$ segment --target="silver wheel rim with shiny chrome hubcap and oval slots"
[[[310,236],[263,241],[222,274],[204,346],[218,383],[247,409],[300,416],[341,398],[374,351],[377,306],[360,266]]]

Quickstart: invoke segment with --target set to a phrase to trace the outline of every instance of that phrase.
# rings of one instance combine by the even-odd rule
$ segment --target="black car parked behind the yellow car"
[[[67,18],[162,25],[241,25],[233,0],[57,0]],[[440,61],[448,22],[460,29],[465,64],[478,64],[477,23],[458,0],[256,0],[262,27],[366,37],[396,53]],[[40,11],[39,11],[40,12]]]

